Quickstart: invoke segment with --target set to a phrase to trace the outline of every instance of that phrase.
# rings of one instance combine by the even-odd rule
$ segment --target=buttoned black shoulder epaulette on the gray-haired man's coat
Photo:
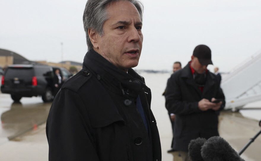
[[[92,74],[88,70],[81,70],[76,75],[67,80],[61,89],[70,89],[74,92],[77,92],[79,88],[86,83]]]

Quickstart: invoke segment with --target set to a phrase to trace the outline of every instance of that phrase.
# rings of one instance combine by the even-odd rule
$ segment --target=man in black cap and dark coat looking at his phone
[[[169,113],[175,113],[174,149],[188,161],[188,144],[192,139],[218,136],[218,113],[225,106],[225,96],[215,74],[207,70],[211,50],[198,45],[191,61],[171,75],[165,98]]]

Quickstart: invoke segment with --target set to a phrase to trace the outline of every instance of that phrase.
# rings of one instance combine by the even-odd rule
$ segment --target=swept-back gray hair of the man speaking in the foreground
[[[88,0],[85,6],[83,13],[83,27],[86,33],[86,42],[88,46],[88,51],[92,49],[93,44],[90,41],[88,36],[88,29],[94,29],[99,33],[100,36],[104,34],[103,24],[106,20],[109,19],[109,14],[106,7],[113,2],[118,2],[120,0]],[[123,1],[123,0],[121,0]],[[142,13],[143,5],[140,1],[137,0],[127,0],[130,1],[138,10],[141,22],[142,22]]]

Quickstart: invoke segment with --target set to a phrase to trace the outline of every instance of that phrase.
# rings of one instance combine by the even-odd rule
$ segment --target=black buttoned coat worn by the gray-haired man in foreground
[[[148,131],[136,110],[140,96]],[[161,160],[160,138],[150,109],[151,92],[134,70],[128,74],[95,51],[58,92],[47,119],[49,160]]]

